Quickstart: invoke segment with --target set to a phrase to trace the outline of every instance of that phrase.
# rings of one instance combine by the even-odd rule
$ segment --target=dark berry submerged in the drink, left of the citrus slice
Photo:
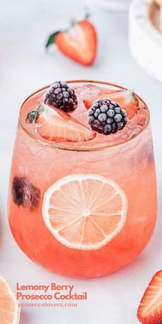
[[[38,207],[40,189],[35,187],[25,176],[14,176],[12,181],[14,203],[25,208]]]

